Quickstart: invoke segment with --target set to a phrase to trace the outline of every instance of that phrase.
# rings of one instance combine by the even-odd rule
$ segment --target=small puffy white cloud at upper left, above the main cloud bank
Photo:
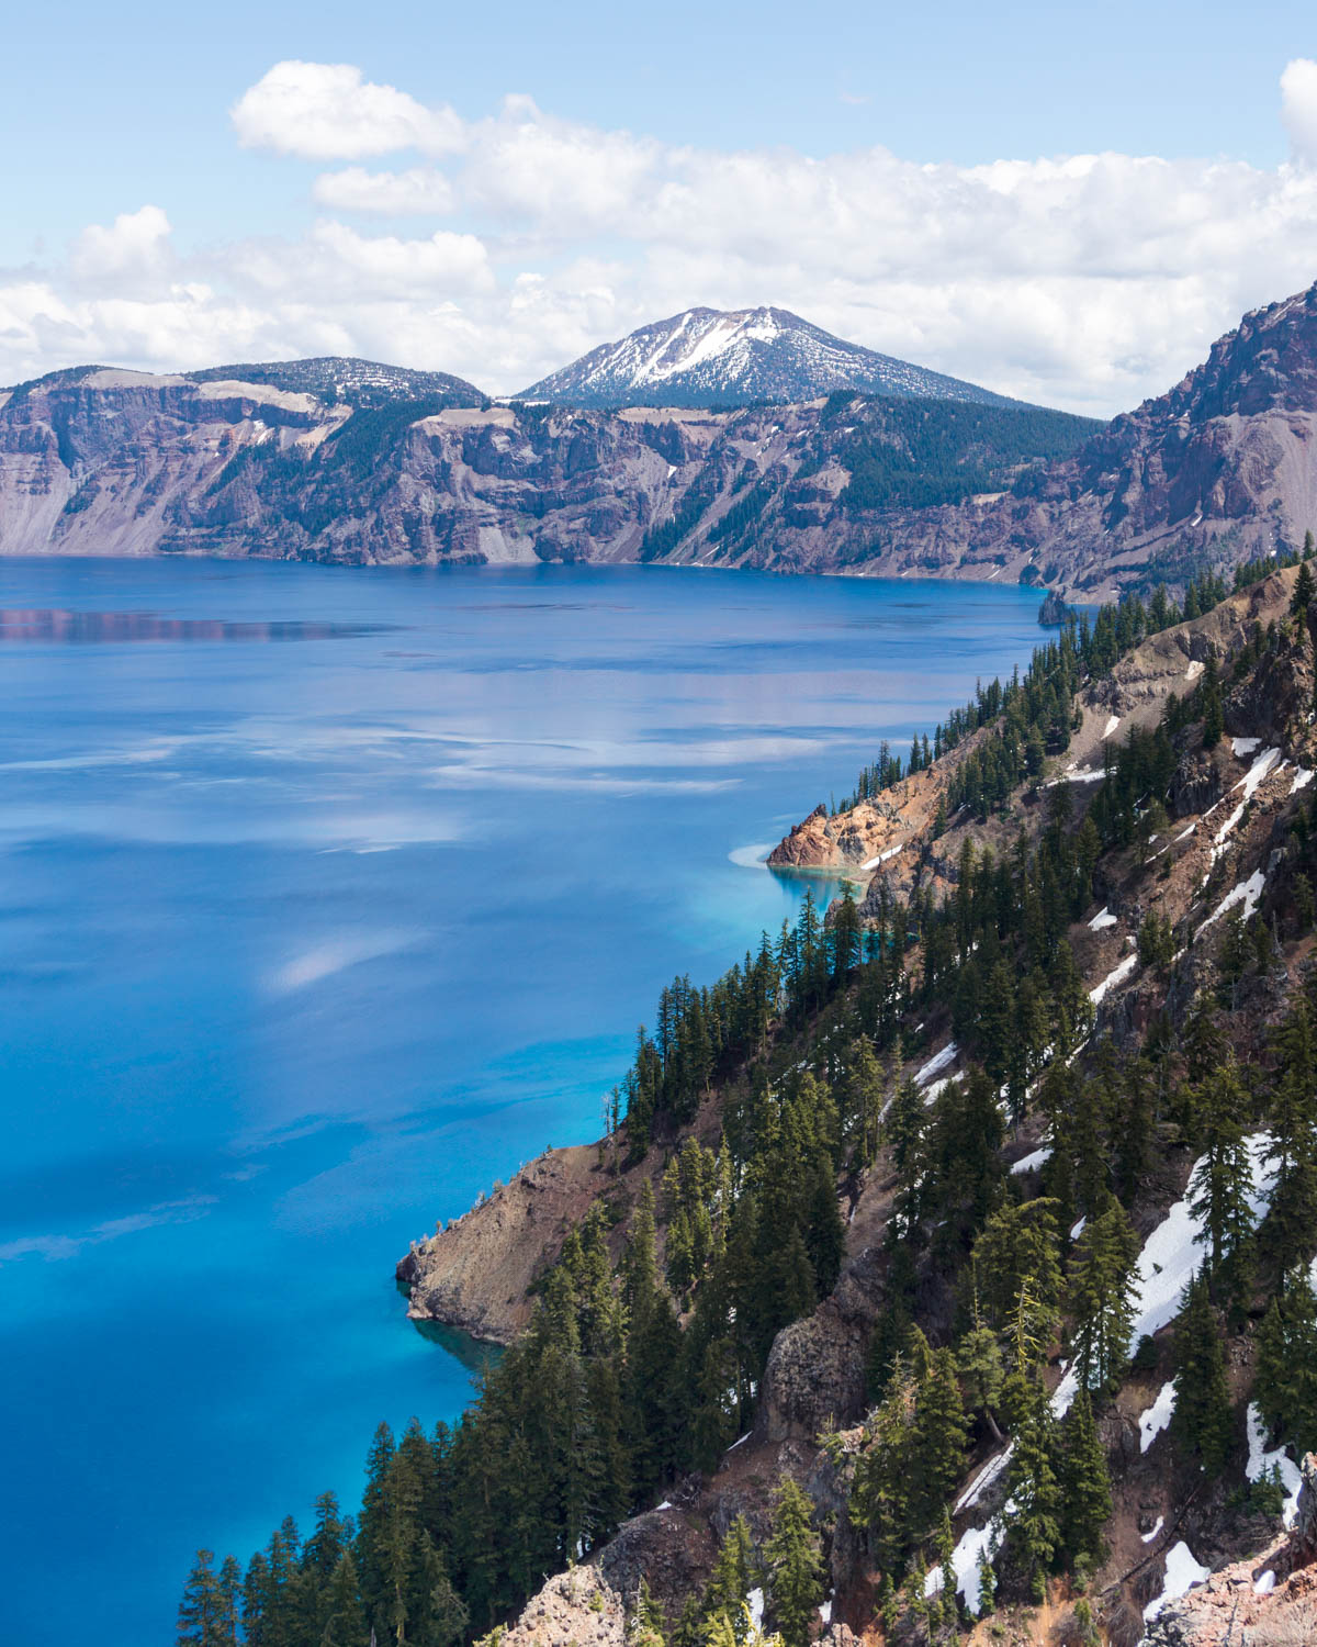
[[[349,63],[277,63],[239,97],[230,119],[245,148],[303,160],[361,160],[398,148],[446,155],[463,142],[451,109],[428,109],[395,86],[365,81]]]

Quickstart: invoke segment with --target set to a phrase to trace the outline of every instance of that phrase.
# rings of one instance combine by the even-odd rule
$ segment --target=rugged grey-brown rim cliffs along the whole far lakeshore
[[[927,496],[963,501],[924,507],[851,486],[874,461],[927,461],[894,410],[912,402],[889,397],[612,413],[461,405],[471,385],[425,374],[347,399],[333,372],[277,376],[89,367],[0,392],[0,550],[663,560],[1093,596],[1297,545],[1317,520],[1317,287],[1250,315],[1170,394],[1082,445],[1077,425],[1068,456],[1040,461],[1067,446],[1055,420],[1045,440],[961,433],[950,488]],[[965,497],[971,474],[998,489]]]

